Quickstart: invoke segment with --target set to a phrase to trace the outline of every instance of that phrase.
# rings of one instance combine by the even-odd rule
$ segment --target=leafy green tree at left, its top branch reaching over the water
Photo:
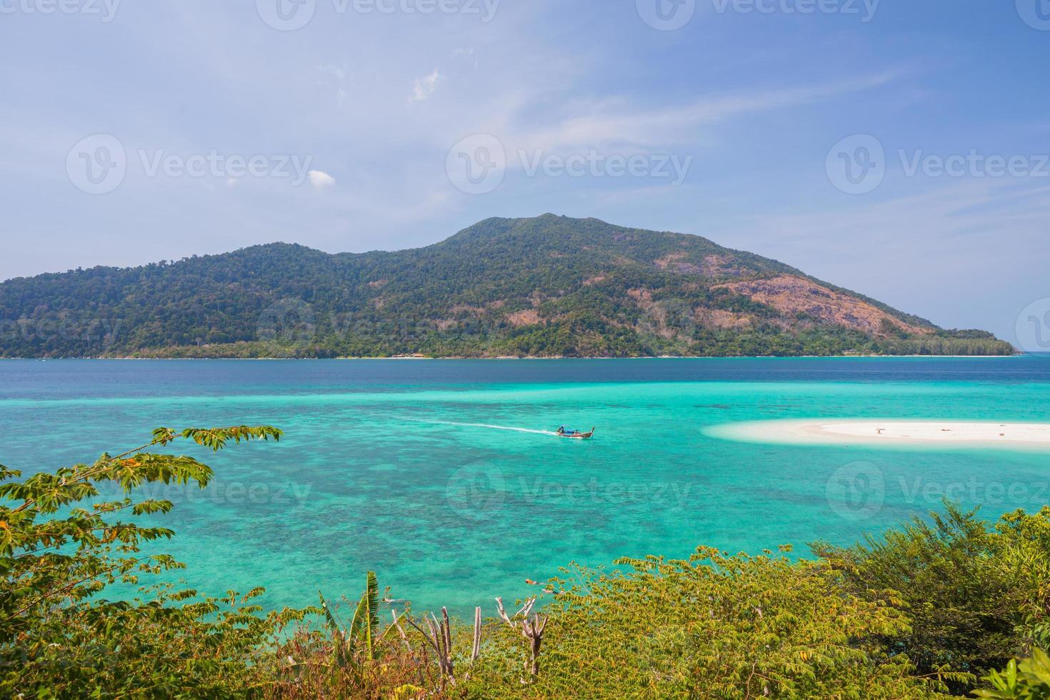
[[[224,697],[250,688],[258,654],[303,613],[260,616],[251,601],[261,589],[215,598],[159,586],[145,599],[106,599],[111,584],[183,565],[140,552],[143,543],[171,537],[170,530],[111,519],[167,512],[170,502],[106,500],[101,489],[130,492],[147,482],[203,488],[212,473],[207,465],[148,450],[176,440],[217,450],[231,441],[279,438],[266,426],[160,428],[136,449],[22,482],[2,468],[0,696]]]

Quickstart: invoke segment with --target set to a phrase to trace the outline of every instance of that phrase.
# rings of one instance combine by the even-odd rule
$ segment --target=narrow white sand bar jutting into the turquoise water
[[[705,432],[726,440],[778,444],[1050,448],[1050,423],[811,419],[728,423]]]

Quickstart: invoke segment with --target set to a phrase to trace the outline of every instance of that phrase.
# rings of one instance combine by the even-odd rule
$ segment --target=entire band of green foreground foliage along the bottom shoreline
[[[266,615],[261,589],[106,597],[182,567],[140,551],[172,536],[147,525],[171,503],[131,495],[211,470],[155,450],[280,436],[161,428],[54,473],[0,468],[0,696],[1050,698],[1050,508],[991,527],[946,504],[862,545],[817,544],[814,560],[700,547],[571,566],[474,624],[414,614],[371,572],[359,597]]]

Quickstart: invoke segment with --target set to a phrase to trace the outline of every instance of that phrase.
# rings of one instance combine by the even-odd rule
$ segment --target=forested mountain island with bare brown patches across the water
[[[551,214],[415,250],[271,243],[0,283],[3,357],[1013,352],[699,236]]]

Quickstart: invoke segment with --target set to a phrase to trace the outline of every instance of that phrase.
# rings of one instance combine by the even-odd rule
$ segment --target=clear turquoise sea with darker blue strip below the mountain
[[[374,570],[417,610],[522,597],[571,560],[850,543],[939,505],[1050,502],[1050,453],[733,443],[786,418],[1050,422],[1050,360],[3,361],[0,463],[25,472],[158,426],[266,423],[279,444],[195,446],[216,472],[164,551],[268,607],[358,595]],[[596,426],[591,441],[547,434]],[[487,613],[486,613],[487,614]]]

